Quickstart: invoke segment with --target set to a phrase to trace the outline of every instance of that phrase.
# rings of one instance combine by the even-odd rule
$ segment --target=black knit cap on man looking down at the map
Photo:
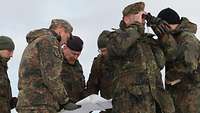
[[[79,51],[81,52],[83,49],[83,41],[78,36],[72,36],[67,41],[67,47],[69,47],[73,51]]]

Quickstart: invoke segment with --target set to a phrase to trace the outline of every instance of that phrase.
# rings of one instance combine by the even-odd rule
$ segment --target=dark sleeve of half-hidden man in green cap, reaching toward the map
[[[95,58],[87,81],[88,95],[98,94],[99,92],[99,74],[101,73],[99,69],[98,59]]]

